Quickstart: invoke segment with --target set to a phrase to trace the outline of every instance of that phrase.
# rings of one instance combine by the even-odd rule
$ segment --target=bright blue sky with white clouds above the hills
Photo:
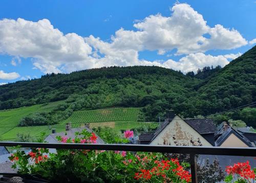
[[[255,17],[255,0],[1,1],[0,83],[110,65],[224,66],[255,44]]]

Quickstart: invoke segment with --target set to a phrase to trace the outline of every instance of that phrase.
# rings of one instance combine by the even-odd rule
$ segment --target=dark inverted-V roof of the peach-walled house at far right
[[[228,126],[225,130],[224,124],[222,123],[220,126],[220,130],[216,133],[216,141],[215,146],[221,146],[221,144],[228,138],[229,135],[234,134],[240,139],[243,143],[245,143],[248,147],[252,147],[250,140],[248,140],[242,133],[238,132],[237,130],[233,129],[232,127]]]

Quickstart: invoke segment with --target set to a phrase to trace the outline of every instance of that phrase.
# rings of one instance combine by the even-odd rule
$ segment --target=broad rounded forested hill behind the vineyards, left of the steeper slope
[[[184,101],[198,79],[157,66],[97,68],[71,74],[51,74],[0,87],[0,109],[58,100],[79,101],[79,108],[145,106],[158,101]],[[79,96],[79,97],[78,97]],[[71,99],[72,98],[72,99]],[[167,99],[168,98],[168,99]],[[166,101],[167,99],[168,101]],[[80,106],[81,105],[81,106]]]

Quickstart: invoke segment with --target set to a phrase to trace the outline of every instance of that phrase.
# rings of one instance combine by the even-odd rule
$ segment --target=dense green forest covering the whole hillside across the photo
[[[196,74],[157,66],[113,66],[0,86],[0,109],[58,100],[67,101],[63,111],[68,116],[75,110],[114,106],[142,107],[146,121],[155,121],[167,109],[184,117],[207,116],[256,101],[256,47],[223,68],[205,67]],[[241,112],[232,118],[240,119]]]

